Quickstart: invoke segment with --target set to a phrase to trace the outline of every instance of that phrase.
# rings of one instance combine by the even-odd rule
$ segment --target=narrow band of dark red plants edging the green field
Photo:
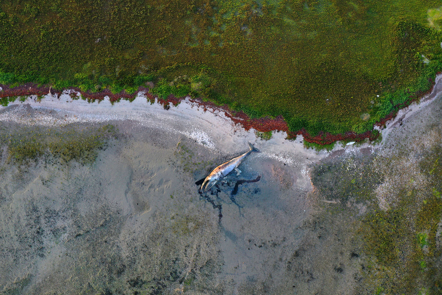
[[[332,144],[339,140],[360,142],[362,140],[365,140],[366,138],[368,138],[370,141],[373,141],[376,140],[380,134],[378,132],[379,128],[377,127],[386,125],[386,123],[390,120],[395,120],[399,116],[401,110],[408,108],[416,101],[422,101],[422,102],[427,101],[426,97],[427,99],[428,97],[431,97],[431,95],[433,94],[433,90],[435,89],[435,86],[441,77],[442,77],[441,73],[437,73],[434,81],[432,82],[431,89],[429,89],[426,93],[412,93],[409,96],[410,99],[408,101],[405,101],[404,103],[399,105],[395,105],[394,110],[391,113],[385,116],[385,118],[382,119],[381,121],[373,124],[373,130],[368,130],[361,134],[348,131],[343,134],[333,135],[328,132],[320,131],[317,136],[310,136],[309,133],[306,132],[305,128],[301,128],[297,132],[291,132],[289,130],[286,121],[282,116],[277,116],[273,119],[269,117],[250,118],[247,114],[245,114],[242,111],[239,112],[232,111],[228,105],[216,105],[211,101],[203,101],[200,98],[190,98],[189,101],[191,103],[194,103],[202,107],[204,111],[211,109],[212,113],[224,112],[224,115],[228,117],[230,120],[232,120],[234,124],[239,124],[246,131],[250,130],[251,128],[255,129],[258,132],[281,131],[281,132],[286,132],[287,134],[286,139],[293,140],[296,139],[298,135],[301,135],[303,139],[306,140],[307,142],[318,145]],[[175,97],[173,95],[169,95],[167,99],[162,99],[160,97],[153,96],[152,93],[149,93],[149,88],[141,86],[138,88],[137,91],[135,91],[132,94],[126,93],[124,90],[120,93],[112,93],[110,92],[109,89],[105,89],[97,93],[83,92],[78,88],[54,90],[51,88],[51,86],[38,87],[38,85],[31,83],[16,86],[13,88],[9,88],[8,85],[0,85],[0,89],[1,89],[0,98],[23,97],[23,96],[30,97],[35,95],[37,97],[41,97],[49,95],[59,99],[61,95],[69,95],[72,99],[80,99],[80,97],[83,97],[83,99],[87,100],[88,102],[94,102],[94,101],[103,101],[105,100],[106,97],[108,97],[111,104],[113,104],[114,102],[121,103],[120,101],[122,99],[129,100],[130,102],[132,102],[137,97],[145,96],[147,100],[151,102],[151,104],[156,102],[157,104],[162,105],[164,109],[167,110],[170,108],[170,103],[176,107],[180,103],[186,101],[186,99],[188,98],[188,97]]]

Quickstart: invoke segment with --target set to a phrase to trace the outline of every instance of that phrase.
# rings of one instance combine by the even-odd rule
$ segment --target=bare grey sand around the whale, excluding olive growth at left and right
[[[333,197],[335,175],[312,173],[333,163],[347,169],[336,175],[351,180],[348,171],[360,173],[361,163],[391,154],[397,142],[406,150],[415,148],[411,140],[433,144],[441,97],[425,103],[411,106],[417,110],[402,124],[387,124],[375,147],[319,153],[283,132],[259,140],[190,101],[165,110],[143,97],[111,105],[66,95],[0,108],[2,132],[107,124],[116,130],[90,164],[42,156],[19,165],[2,147],[0,291],[357,294],[364,256],[351,226],[367,204]],[[246,151],[248,141],[262,153],[243,161],[240,176],[200,192],[195,182]],[[232,195],[236,181],[258,176]],[[343,215],[324,214],[343,204]]]

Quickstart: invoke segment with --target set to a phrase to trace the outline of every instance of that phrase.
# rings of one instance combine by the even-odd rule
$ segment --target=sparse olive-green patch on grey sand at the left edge
[[[42,155],[53,155],[65,162],[72,159],[87,164],[95,161],[97,150],[115,136],[114,127],[99,128],[19,128],[13,133],[0,132],[8,159],[25,163]]]

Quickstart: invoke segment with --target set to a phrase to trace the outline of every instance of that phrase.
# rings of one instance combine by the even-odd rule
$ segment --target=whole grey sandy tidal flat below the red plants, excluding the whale
[[[66,100],[0,109],[1,293],[440,294],[440,95],[330,152],[190,102]]]

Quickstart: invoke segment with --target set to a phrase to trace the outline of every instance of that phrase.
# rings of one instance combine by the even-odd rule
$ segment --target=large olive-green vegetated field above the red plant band
[[[362,133],[442,70],[439,0],[14,0],[0,84],[187,94]],[[379,95],[379,97],[377,97]]]

